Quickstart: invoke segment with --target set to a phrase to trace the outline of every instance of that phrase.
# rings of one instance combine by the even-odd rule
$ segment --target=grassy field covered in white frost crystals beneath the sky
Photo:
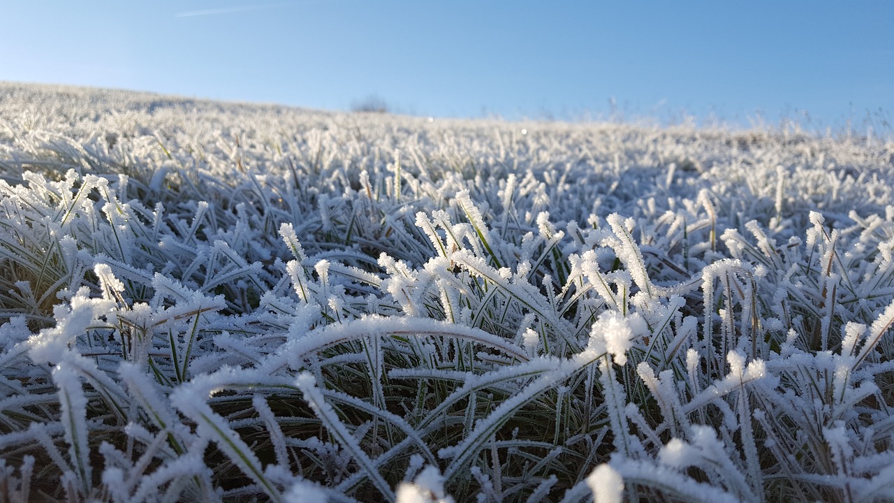
[[[894,499],[894,141],[0,84],[0,500]]]

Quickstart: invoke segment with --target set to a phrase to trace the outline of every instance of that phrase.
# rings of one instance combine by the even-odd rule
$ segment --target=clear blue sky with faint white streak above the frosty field
[[[0,23],[3,81],[510,119],[611,98],[628,118],[894,114],[889,0],[4,0]]]

